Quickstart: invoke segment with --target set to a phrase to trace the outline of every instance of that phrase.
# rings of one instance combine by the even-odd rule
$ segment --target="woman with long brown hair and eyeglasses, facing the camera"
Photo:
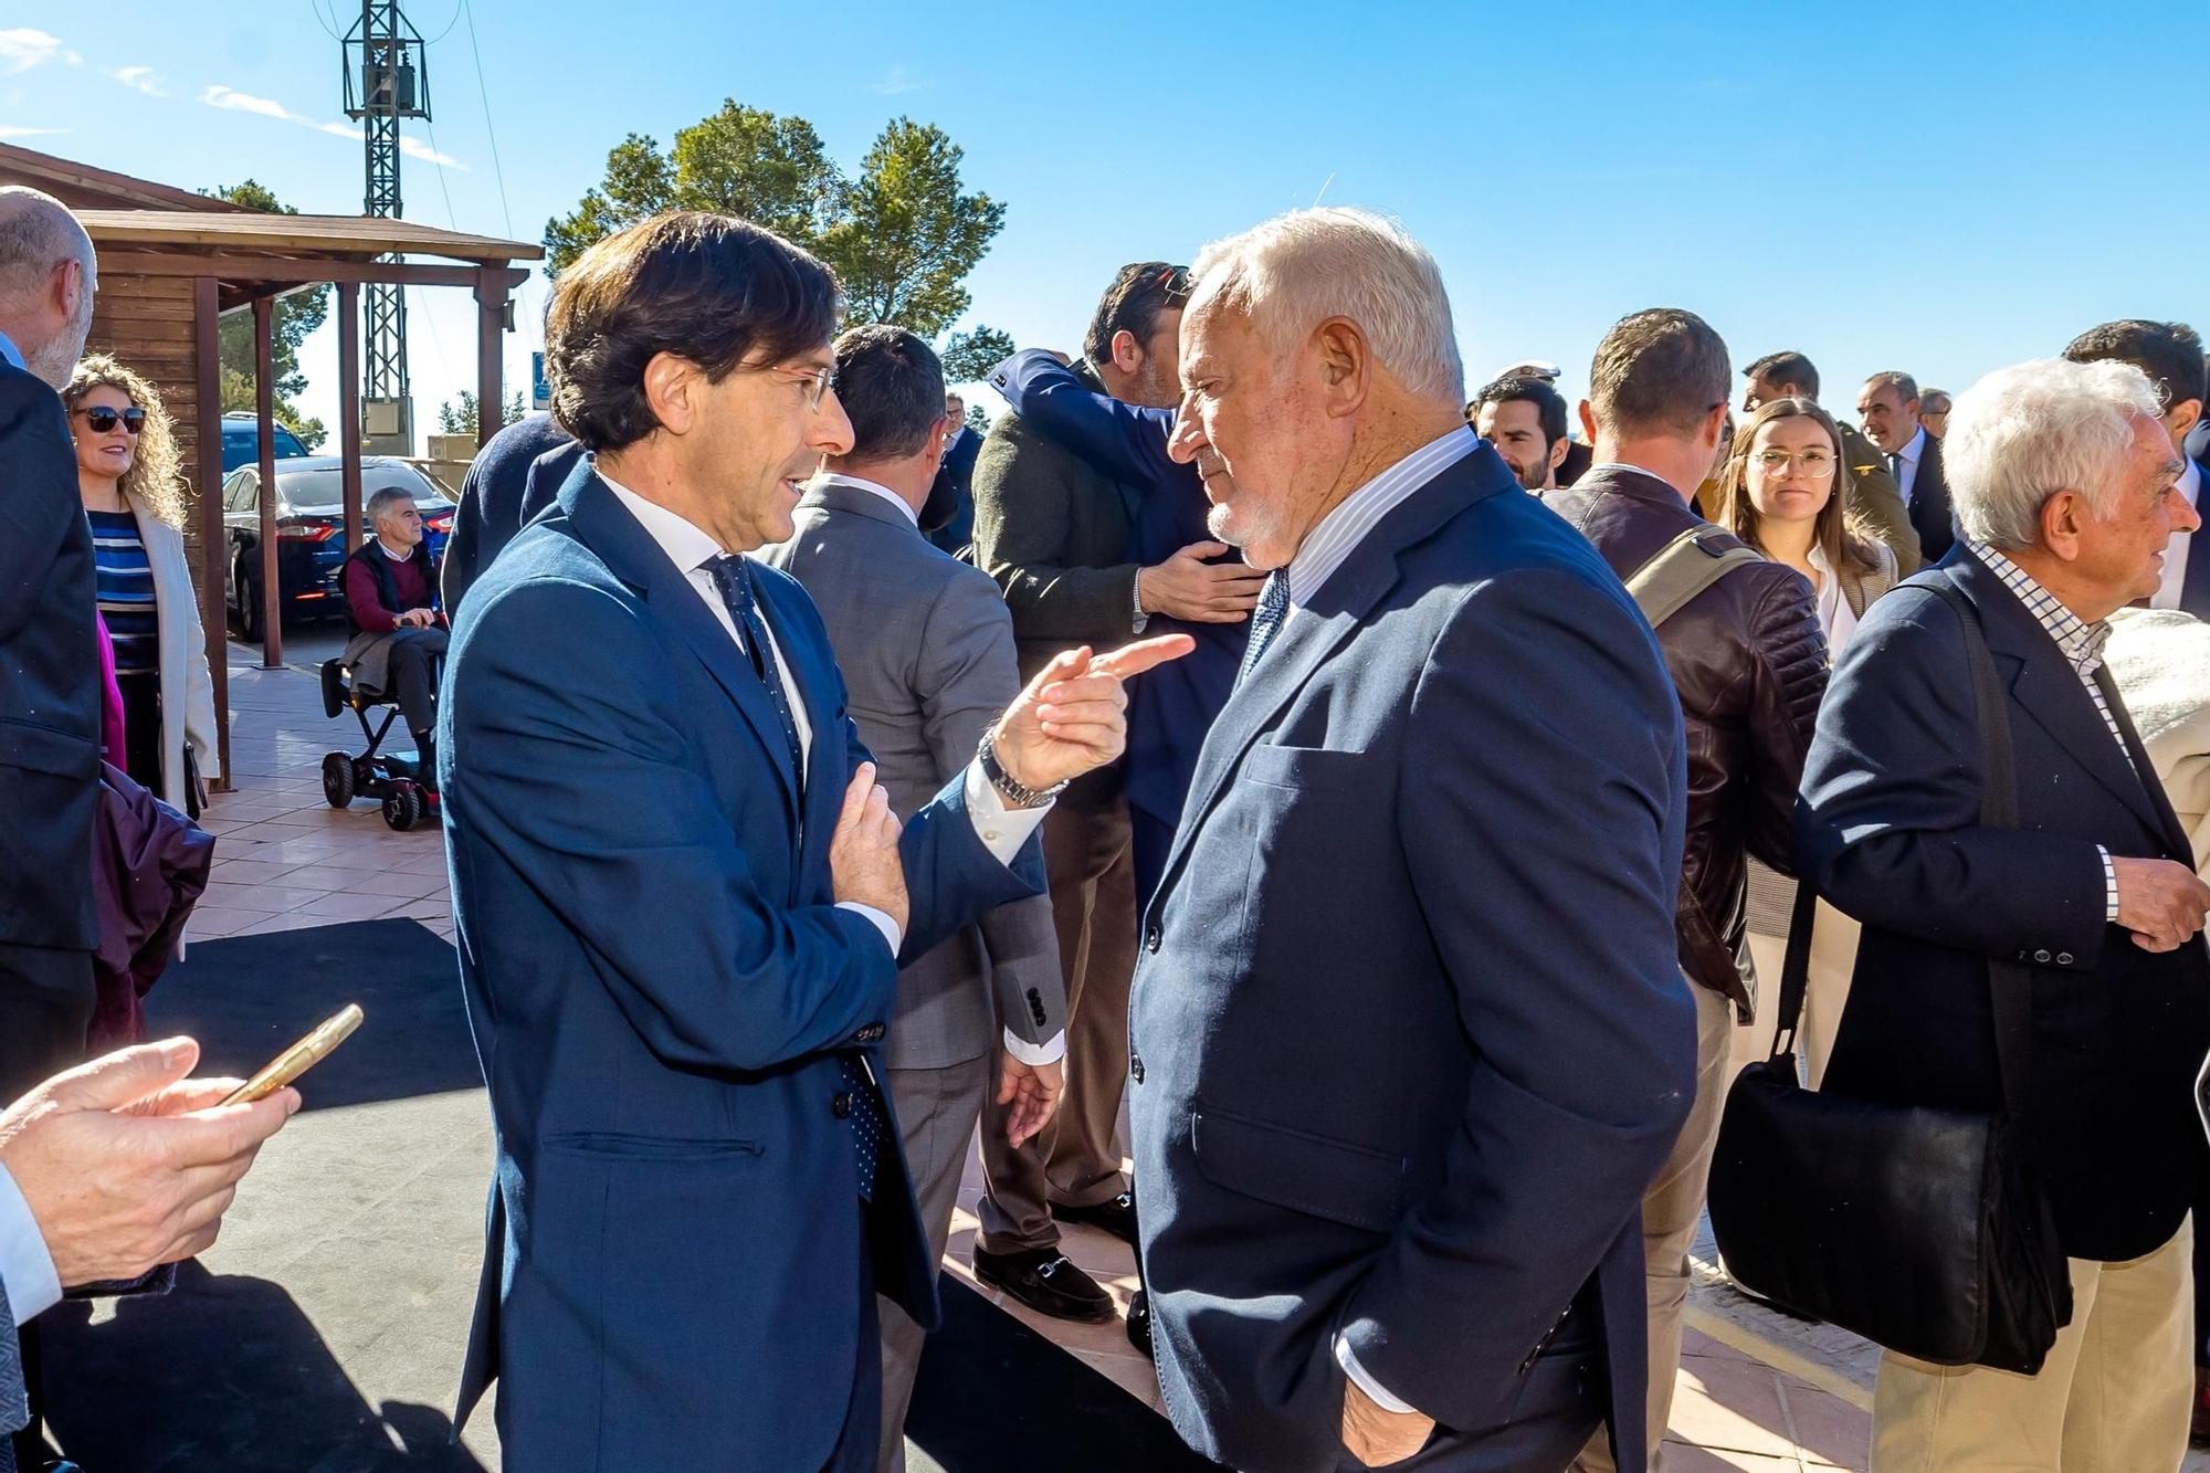
[[[1828,655],[1856,630],[1856,621],[1896,586],[1896,555],[1878,537],[1850,526],[1843,511],[1848,467],[1841,429],[1808,398],[1775,398],[1735,431],[1733,451],[1713,487],[1711,520],[1772,562],[1801,573],[1819,595],[1819,624]],[[1772,1048],[1772,1015],[1788,953],[1788,916],[1795,882],[1750,860],[1750,960],[1757,967],[1757,1022],[1735,1033],[1735,1066]],[[1797,1051],[1806,1079],[1817,1086],[1834,1048],[1841,1009],[1856,967],[1856,922],[1819,902],[1812,922],[1810,982]]]

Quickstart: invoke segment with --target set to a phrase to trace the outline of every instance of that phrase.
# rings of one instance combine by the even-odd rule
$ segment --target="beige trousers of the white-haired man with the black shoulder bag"
[[[2195,1228],[2130,1263],[2071,1261],[2040,1376],[1881,1356],[1872,1473],[2175,1473],[2195,1400]]]

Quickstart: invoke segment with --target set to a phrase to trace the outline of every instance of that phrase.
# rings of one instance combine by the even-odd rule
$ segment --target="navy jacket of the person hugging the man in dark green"
[[[1154,566],[1191,542],[1211,542],[1204,484],[1193,464],[1167,456],[1174,409],[1147,409],[1094,394],[1043,349],[997,365],[990,383],[1012,411],[1092,467],[1145,495],[1127,555]],[[1198,648],[1140,675],[1127,692],[1127,801],[1174,827],[1198,770],[1198,748],[1235,688],[1249,624],[1185,624],[1151,615],[1145,635],[1189,635]]]

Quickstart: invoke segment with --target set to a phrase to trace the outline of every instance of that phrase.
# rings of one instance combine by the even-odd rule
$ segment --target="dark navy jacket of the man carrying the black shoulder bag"
[[[1978,610],[2011,697],[2016,829],[1980,825],[1980,723],[1962,626],[1929,593],[1943,584]],[[2201,940],[2141,951],[2104,922],[2095,845],[2192,867],[2108,672],[2104,694],[2126,750],[2040,621],[1958,542],[1865,613],[1834,668],[1803,767],[1797,871],[1865,922],[1821,1088],[1998,1108],[1987,958],[2024,962],[2022,1112],[2058,1239],[2073,1258],[2124,1261],[2161,1247],[2199,1194],[2210,955]]]

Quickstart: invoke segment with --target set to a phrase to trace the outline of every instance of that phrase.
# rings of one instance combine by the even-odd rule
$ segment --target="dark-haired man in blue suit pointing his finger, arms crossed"
[[[866,1469],[880,1289],[935,1265],[875,1055],[899,958],[1039,894],[1032,834],[1125,745],[1120,677],[1052,659],[908,823],[820,615],[743,553],[822,456],[835,279],[663,215],[561,272],[555,414],[590,451],[471,591],[440,763],[497,1181],[460,1418],[513,1469]]]

